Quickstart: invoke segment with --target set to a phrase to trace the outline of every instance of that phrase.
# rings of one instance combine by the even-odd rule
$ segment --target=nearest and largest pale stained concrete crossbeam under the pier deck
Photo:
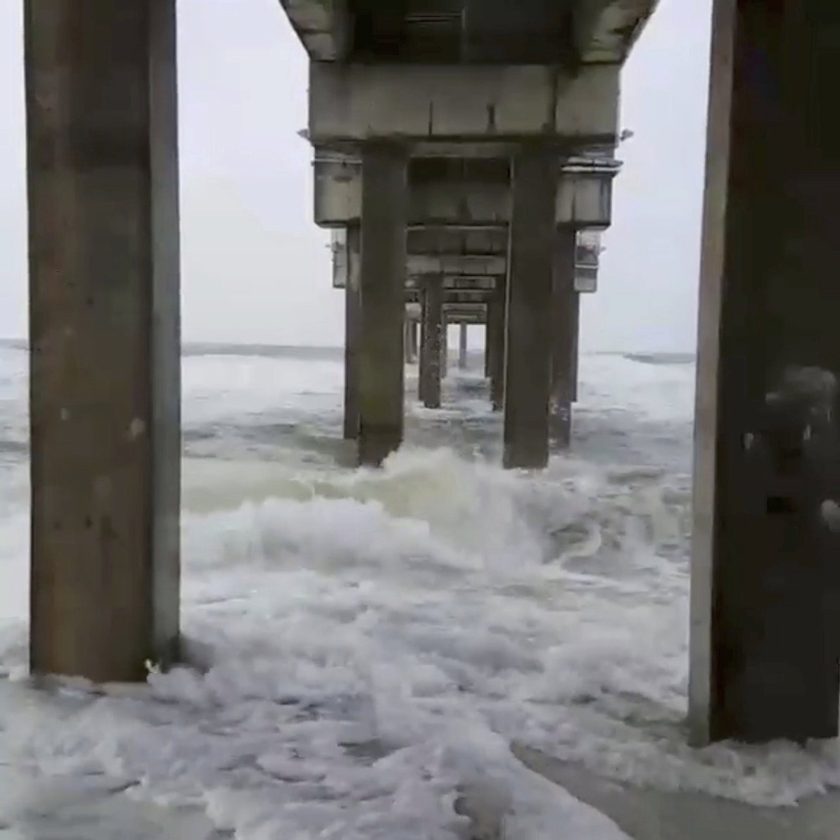
[[[448,144],[547,138],[560,148],[617,144],[618,65],[565,73],[548,66],[338,64],[309,71],[316,145],[401,138]]]

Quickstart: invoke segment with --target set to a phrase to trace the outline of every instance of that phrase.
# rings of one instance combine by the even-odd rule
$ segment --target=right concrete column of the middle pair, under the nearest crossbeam
[[[507,309],[505,454],[508,469],[549,460],[551,298],[559,160],[543,146],[513,162]]]

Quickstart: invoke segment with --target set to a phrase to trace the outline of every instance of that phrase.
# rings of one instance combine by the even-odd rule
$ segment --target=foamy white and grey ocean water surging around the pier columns
[[[473,361],[440,412],[409,371],[407,444],[366,471],[341,440],[339,352],[190,349],[182,602],[202,667],[36,691],[26,356],[0,347],[0,779],[243,840],[467,837],[471,796],[517,840],[623,836],[519,746],[760,805],[840,786],[832,745],[685,745],[692,361],[584,356],[573,450],[538,475],[500,469]],[[94,837],[22,801],[0,795],[0,834]]]

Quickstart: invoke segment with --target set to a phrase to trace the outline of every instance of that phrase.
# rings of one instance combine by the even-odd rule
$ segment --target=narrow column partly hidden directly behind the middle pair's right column
[[[568,449],[572,431],[572,398],[575,375],[575,251],[572,228],[554,234],[554,286],[551,301],[551,400],[549,429],[552,443]]]

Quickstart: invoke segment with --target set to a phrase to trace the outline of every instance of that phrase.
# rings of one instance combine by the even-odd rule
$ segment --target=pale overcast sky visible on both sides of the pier
[[[0,0],[0,337],[26,334],[21,0]],[[312,223],[306,55],[278,0],[180,0],[187,340],[340,344],[328,236]],[[711,0],[661,0],[627,64],[587,349],[693,349]],[[477,335],[476,335],[477,338]]]

